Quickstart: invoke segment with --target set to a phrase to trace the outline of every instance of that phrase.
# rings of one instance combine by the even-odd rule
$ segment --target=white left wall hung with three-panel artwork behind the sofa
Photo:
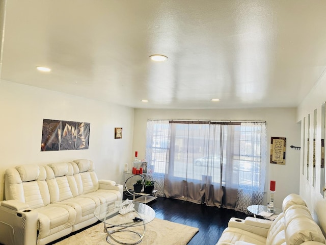
[[[133,108],[0,81],[0,114],[0,200],[5,169],[19,164],[87,158],[99,179],[122,183],[132,157]],[[43,119],[90,122],[89,149],[41,152]],[[122,139],[114,139],[115,127],[123,128]]]

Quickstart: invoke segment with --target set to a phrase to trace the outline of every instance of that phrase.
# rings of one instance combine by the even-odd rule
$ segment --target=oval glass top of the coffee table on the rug
[[[151,222],[155,218],[155,211],[146,204],[128,200],[102,204],[95,209],[94,215],[106,225],[130,227]]]

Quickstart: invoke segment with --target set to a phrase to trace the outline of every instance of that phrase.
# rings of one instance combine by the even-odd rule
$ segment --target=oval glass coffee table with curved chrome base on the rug
[[[102,204],[94,215],[103,223],[108,243],[132,245],[142,241],[145,225],[155,218],[155,211],[146,204],[127,200]]]

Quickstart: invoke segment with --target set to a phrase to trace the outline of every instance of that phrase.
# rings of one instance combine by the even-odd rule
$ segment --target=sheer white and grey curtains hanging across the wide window
[[[265,122],[149,120],[147,137],[159,195],[242,212],[262,203]]]

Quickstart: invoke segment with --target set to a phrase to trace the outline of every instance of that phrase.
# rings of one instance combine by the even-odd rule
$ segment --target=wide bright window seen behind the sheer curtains
[[[152,173],[258,189],[261,171],[261,124],[149,120],[146,159]],[[222,171],[221,171],[222,166]],[[229,177],[232,178],[229,178]]]

